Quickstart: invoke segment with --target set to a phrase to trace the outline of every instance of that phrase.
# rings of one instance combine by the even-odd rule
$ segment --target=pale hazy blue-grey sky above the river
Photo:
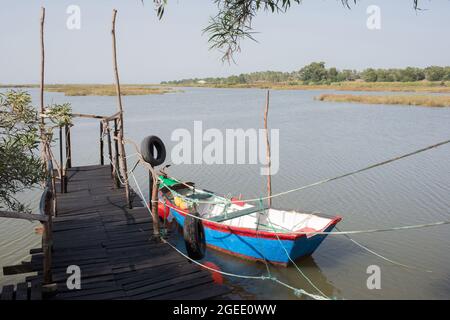
[[[0,0],[0,83],[38,83],[39,18],[46,7],[46,83],[112,83],[111,17],[118,10],[122,83],[159,83],[254,71],[294,71],[313,61],[358,69],[450,65],[450,1],[303,0],[284,14],[260,12],[258,42],[245,40],[236,63],[223,63],[202,33],[217,13],[213,0],[168,0],[157,19],[152,0]],[[80,9],[80,28],[67,28],[67,9]],[[371,30],[370,5],[380,9]]]

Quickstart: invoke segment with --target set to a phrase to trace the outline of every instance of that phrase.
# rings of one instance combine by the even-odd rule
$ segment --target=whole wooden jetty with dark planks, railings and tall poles
[[[116,59],[116,15],[117,11],[113,10],[111,35],[117,112],[111,116],[71,113],[70,121],[52,120],[46,128],[49,115],[44,104],[45,8],[41,9],[39,117],[41,156],[47,164],[44,190],[39,214],[0,211],[0,217],[41,222],[42,248],[30,251],[30,262],[3,268],[6,276],[28,272],[37,275],[27,277],[23,283],[3,287],[1,300],[232,297],[231,290],[216,284],[209,271],[161,241],[157,206],[150,213],[130,188]],[[74,118],[100,120],[100,165],[72,167]],[[58,129],[54,123],[59,127],[59,160],[53,154],[55,145],[47,132],[47,129]],[[109,160],[106,165],[105,144]],[[154,168],[150,166],[147,170],[151,173]],[[151,178],[150,199],[154,203],[158,189],[156,174]],[[70,266],[80,268],[79,289],[67,285]]]

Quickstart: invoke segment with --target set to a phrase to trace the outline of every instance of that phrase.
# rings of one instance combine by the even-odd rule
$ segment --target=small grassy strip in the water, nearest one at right
[[[393,104],[422,107],[450,107],[450,96],[440,95],[352,95],[352,94],[322,94],[315,98],[329,102],[351,102],[364,104]]]

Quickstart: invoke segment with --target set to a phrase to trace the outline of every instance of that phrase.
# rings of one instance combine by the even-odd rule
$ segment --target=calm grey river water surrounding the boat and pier
[[[34,101],[38,91],[31,89]],[[274,193],[306,185],[407,153],[450,137],[450,109],[359,105],[315,101],[320,91],[273,91],[269,127],[280,129],[280,170]],[[114,97],[65,97],[46,93],[46,101],[72,103],[75,112],[110,115]],[[265,91],[258,89],[186,88],[183,93],[129,96],[123,99],[126,136],[140,141],[154,134],[168,150],[176,128],[261,128]],[[98,121],[77,119],[73,128],[73,164],[98,163]],[[134,150],[128,148],[128,154]],[[368,172],[274,199],[274,206],[343,216],[342,230],[372,229],[449,220],[450,146],[446,145]],[[133,165],[129,159],[129,166]],[[179,165],[169,172],[221,194],[245,198],[265,194],[258,165]],[[137,170],[147,194],[147,175]],[[37,191],[23,199],[36,204]],[[26,257],[39,245],[35,224],[0,220],[0,265]],[[448,299],[450,297],[450,227],[355,235],[372,250],[420,270],[392,265],[342,236],[329,236],[299,266],[328,296],[344,299]],[[183,243],[178,238],[178,245]],[[265,274],[263,264],[209,250],[205,260],[223,271]],[[367,267],[381,268],[381,289],[369,290]],[[422,271],[432,270],[432,273]],[[311,293],[314,289],[294,267],[273,268],[279,279]],[[12,281],[1,277],[0,284]],[[269,281],[226,279],[249,297],[295,299]]]

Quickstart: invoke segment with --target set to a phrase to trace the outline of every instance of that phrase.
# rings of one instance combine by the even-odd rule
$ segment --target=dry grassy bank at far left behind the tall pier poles
[[[0,85],[0,88],[39,88],[37,84],[8,84]],[[66,96],[115,96],[116,87],[108,84],[51,84],[45,86],[47,92],[60,92]],[[158,85],[137,85],[124,84],[120,86],[120,92],[124,96],[151,95],[174,93],[181,90],[174,90],[171,87],[161,87]]]

